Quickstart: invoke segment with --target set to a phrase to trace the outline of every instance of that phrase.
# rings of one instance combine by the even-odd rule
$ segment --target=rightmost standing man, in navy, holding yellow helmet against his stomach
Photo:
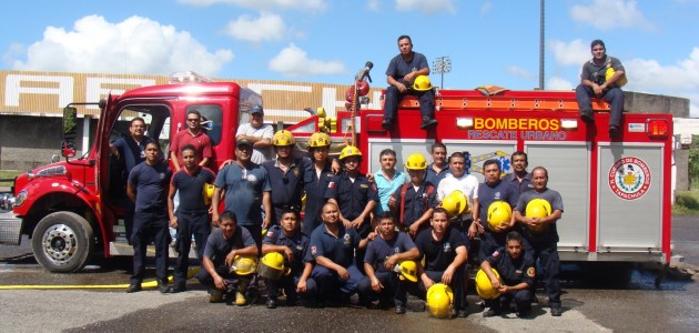
[[[543,167],[531,170],[534,191],[519,194],[514,210],[515,221],[520,223],[525,250],[531,253],[546,279],[545,289],[553,316],[560,316],[560,259],[558,258],[558,232],[556,221],[564,211],[560,193],[547,188],[548,171]]]

